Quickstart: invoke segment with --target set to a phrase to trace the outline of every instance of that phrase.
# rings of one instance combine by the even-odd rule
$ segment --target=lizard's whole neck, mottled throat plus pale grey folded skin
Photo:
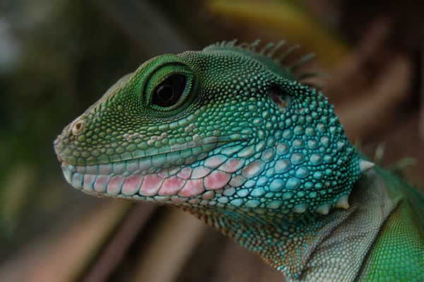
[[[334,209],[326,216],[307,212],[270,218],[254,210],[216,207],[187,211],[259,254],[289,281],[354,281],[396,206],[377,178],[375,172],[363,175],[353,187],[351,208]],[[340,272],[334,274],[334,269]]]

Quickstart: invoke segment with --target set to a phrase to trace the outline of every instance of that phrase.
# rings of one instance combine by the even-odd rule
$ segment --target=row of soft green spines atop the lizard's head
[[[286,47],[286,48],[284,48]],[[288,74],[290,78],[294,78],[300,83],[305,83],[305,80],[314,78],[317,76],[325,76],[325,74],[320,74],[317,72],[303,72],[302,70],[296,71],[300,66],[306,64],[307,62],[312,61],[316,57],[314,53],[304,54],[296,61],[288,61],[288,58],[293,55],[293,53],[300,49],[300,45],[291,45],[288,46],[285,40],[280,40],[276,43],[269,42],[261,46],[261,40],[254,40],[253,42],[241,42],[237,43],[237,39],[231,41],[221,41],[216,42],[213,45],[206,47],[205,49],[232,49],[234,51],[242,52],[252,52],[255,55],[266,57],[276,62],[281,68]],[[314,88],[317,88],[316,85],[311,85],[308,81],[305,83]]]

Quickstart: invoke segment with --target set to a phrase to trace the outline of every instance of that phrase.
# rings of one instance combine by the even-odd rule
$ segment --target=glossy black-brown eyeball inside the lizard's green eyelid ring
[[[162,81],[153,91],[152,102],[160,107],[175,105],[186,86],[186,78],[181,74],[174,74]]]

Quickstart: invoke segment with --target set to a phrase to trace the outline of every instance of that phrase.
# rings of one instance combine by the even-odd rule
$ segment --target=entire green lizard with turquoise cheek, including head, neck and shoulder
[[[360,157],[278,61],[290,48],[256,45],[164,54],[121,78],[54,141],[66,180],[179,206],[290,281],[424,281],[423,196]]]

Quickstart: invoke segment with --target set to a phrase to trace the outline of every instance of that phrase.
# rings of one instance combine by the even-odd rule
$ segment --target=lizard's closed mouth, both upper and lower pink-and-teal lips
[[[237,144],[240,142],[228,143],[217,141],[208,146],[108,164],[69,165],[63,161],[61,168],[69,184],[95,196],[172,200],[174,204],[193,197],[196,199],[190,200],[207,201],[204,198],[210,197],[211,190],[225,187],[232,172],[244,164],[240,158],[222,154],[225,150],[234,153],[242,148]],[[220,152],[208,155],[216,148]]]

